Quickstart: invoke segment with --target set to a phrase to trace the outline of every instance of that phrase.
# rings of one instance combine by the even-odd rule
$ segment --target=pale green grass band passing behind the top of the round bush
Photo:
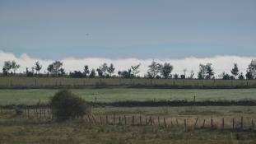
[[[0,105],[35,105],[47,102],[58,90],[0,90]],[[256,100],[256,89],[74,89],[73,93],[88,101],[120,100]]]

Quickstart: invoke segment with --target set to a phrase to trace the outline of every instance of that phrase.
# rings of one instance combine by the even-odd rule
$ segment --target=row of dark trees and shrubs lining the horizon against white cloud
[[[139,68],[141,63],[131,66],[128,70],[125,71],[118,71],[118,76],[114,75],[115,67],[113,63],[109,65],[107,63],[103,63],[100,67],[91,70],[87,65],[84,66],[83,72],[81,71],[74,71],[74,72],[65,72],[63,69],[63,63],[60,61],[55,61],[54,63],[49,64],[47,67],[47,76],[49,77],[123,77],[123,78],[133,78],[139,77]],[[2,67],[3,75],[15,75],[16,70],[20,67],[15,61],[6,61]],[[35,62],[35,66],[26,68],[26,76],[27,77],[34,77],[40,76],[40,71],[42,69],[42,65],[40,62]],[[152,61],[151,64],[148,66],[147,74],[144,77],[147,78],[194,78],[194,72],[191,71],[189,76],[186,76],[187,69],[184,69],[184,73],[179,76],[179,74],[175,73],[174,75],[171,74],[174,67],[170,63],[156,63],[156,61]],[[249,63],[247,68],[246,74],[244,76],[243,72],[240,72],[237,63],[234,63],[234,67],[230,70],[230,74],[226,72],[222,72],[219,77],[222,79],[256,79],[256,59],[252,60]],[[45,73],[44,73],[45,75]],[[199,65],[199,72],[198,72],[198,79],[215,79],[215,72],[212,67],[212,63],[207,64],[200,64]]]

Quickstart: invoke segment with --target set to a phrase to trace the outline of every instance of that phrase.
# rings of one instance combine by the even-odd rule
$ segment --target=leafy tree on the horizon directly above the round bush
[[[54,63],[49,64],[47,70],[50,74],[54,74],[56,77],[58,77],[58,75],[63,76],[65,74],[63,63],[60,61],[55,61]]]

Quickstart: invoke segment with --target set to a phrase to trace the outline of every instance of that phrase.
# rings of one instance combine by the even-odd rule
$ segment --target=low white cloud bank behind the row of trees
[[[183,73],[184,68],[187,69],[187,76],[190,71],[193,70],[197,75],[198,66],[200,63],[212,63],[214,67],[214,72],[216,76],[221,74],[221,72],[229,72],[230,69],[234,66],[234,63],[238,64],[240,72],[245,73],[246,68],[249,63],[255,57],[240,57],[240,56],[215,56],[212,58],[183,58],[183,59],[155,59],[157,63],[171,63],[174,66],[172,73]],[[2,67],[4,61],[15,60],[18,64],[21,65],[20,69],[17,72],[25,72],[26,67],[33,67],[36,61],[40,61],[43,65],[41,72],[46,72],[46,69],[50,63],[53,63],[53,59],[41,59],[41,58],[32,58],[26,53],[21,54],[21,56],[16,56],[13,53],[6,53],[0,50],[0,67]],[[123,59],[110,59],[110,58],[63,58],[59,59],[63,62],[63,67],[66,72],[71,72],[74,70],[83,71],[83,66],[88,65],[91,68],[97,68],[102,63],[113,63],[116,68],[115,73],[119,70],[128,70],[132,65],[141,63],[140,75],[143,76],[147,73],[147,66],[151,63],[152,59],[138,59],[138,58],[123,58]]]

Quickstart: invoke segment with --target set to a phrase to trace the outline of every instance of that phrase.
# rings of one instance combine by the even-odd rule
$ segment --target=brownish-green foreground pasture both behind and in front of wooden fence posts
[[[97,123],[88,123],[86,120],[72,120],[57,123],[43,118],[26,118],[16,114],[2,112],[0,114],[0,143],[254,143],[256,133],[248,129],[250,120],[256,118],[256,107],[148,107],[148,108],[93,108]],[[113,123],[115,113],[116,123],[119,116],[127,116],[128,123],[101,125],[99,117],[109,115],[109,123]],[[31,113],[33,114],[33,113]],[[152,116],[153,125],[131,125],[132,115],[135,123],[142,123],[145,118]],[[157,116],[161,118],[161,126],[157,123]],[[235,128],[240,128],[240,117],[244,117],[244,130],[232,130],[232,118],[235,118]],[[214,128],[210,127],[210,118],[213,117]],[[166,118],[167,128],[163,125]],[[184,129],[184,118],[188,126]],[[198,119],[197,128],[194,128],[195,118]],[[225,129],[221,129],[221,118],[225,118]],[[179,124],[176,123],[179,119]],[[206,119],[205,128],[202,119]],[[104,117],[103,120],[105,121]],[[173,125],[170,124],[173,122]]]

